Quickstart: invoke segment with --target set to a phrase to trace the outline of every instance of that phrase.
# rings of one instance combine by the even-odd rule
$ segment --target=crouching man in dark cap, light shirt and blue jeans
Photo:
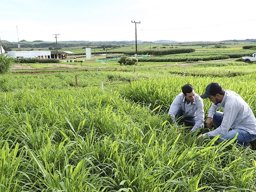
[[[203,137],[220,135],[221,142],[235,138],[238,133],[236,142],[242,146],[248,146],[249,142],[256,139],[256,118],[250,106],[236,92],[224,90],[218,83],[211,83],[207,85],[201,98],[209,98],[213,102],[208,110],[207,128],[212,127],[212,122],[217,127],[204,133]],[[219,107],[223,112],[217,111]]]

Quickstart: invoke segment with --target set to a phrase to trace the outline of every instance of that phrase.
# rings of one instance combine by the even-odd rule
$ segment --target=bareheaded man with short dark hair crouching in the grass
[[[204,128],[204,103],[202,98],[195,93],[191,84],[181,87],[182,93],[173,100],[168,114],[173,118],[182,117],[187,126],[192,126],[191,132]]]

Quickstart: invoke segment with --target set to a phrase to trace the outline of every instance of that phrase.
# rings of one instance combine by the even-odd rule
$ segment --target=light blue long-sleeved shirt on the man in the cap
[[[223,120],[221,125],[215,130],[204,133],[203,137],[208,134],[209,137],[217,135],[223,136],[231,129],[242,129],[252,135],[256,135],[256,118],[250,106],[236,92],[225,90],[225,95],[221,103],[215,105],[212,103],[208,110],[208,117],[213,117],[217,109],[223,109]]]

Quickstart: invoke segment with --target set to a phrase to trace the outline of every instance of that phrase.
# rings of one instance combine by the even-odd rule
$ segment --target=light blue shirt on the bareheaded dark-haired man
[[[192,103],[186,102],[186,98],[184,97],[183,93],[180,93],[175,97],[173,100],[168,114],[172,117],[175,118],[178,109],[181,108],[181,111],[183,114],[186,114],[188,117],[195,117],[196,116],[196,122],[191,131],[194,131],[204,124],[204,103],[202,98],[195,93],[195,101]]]

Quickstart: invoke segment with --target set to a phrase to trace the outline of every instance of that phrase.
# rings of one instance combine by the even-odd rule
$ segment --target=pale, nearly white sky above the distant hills
[[[211,42],[256,39],[255,0],[3,0],[0,38]]]

